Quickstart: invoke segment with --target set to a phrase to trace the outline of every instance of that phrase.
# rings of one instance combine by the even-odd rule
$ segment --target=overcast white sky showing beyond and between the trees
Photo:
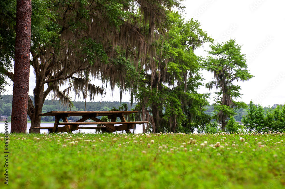
[[[263,106],[285,103],[285,64],[282,57],[285,50],[285,1],[203,0],[185,1],[185,6],[186,18],[198,20],[201,28],[216,42],[235,38],[237,44],[243,45],[242,53],[246,54],[248,70],[255,77],[244,83],[239,82],[243,94],[239,101],[249,103],[253,100]],[[196,54],[207,56],[204,50],[209,50],[209,44],[198,49]],[[213,76],[203,71],[203,77],[207,82]],[[98,81],[93,83],[101,85]],[[29,95],[33,95],[34,86],[34,71],[31,68]],[[7,89],[5,94],[12,94],[13,88]],[[199,92],[209,90],[201,87]],[[129,94],[125,94],[122,101],[129,100]],[[98,96],[94,101],[119,101],[119,90],[115,90],[113,97]],[[209,101],[213,103],[211,99]]]

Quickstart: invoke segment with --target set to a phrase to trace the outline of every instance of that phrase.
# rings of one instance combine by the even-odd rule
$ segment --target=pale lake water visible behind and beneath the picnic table
[[[11,123],[8,123],[8,131],[10,132],[11,131]],[[27,123],[27,133],[30,129],[30,126],[31,126],[31,123]],[[53,127],[54,126],[54,123],[41,123],[40,124],[41,127]],[[80,130],[77,130],[77,131],[72,131],[72,133],[77,133],[77,132],[83,132],[83,133],[95,133],[95,129],[80,129]],[[5,132],[5,123],[1,122],[0,123],[0,132],[3,133]],[[40,133],[48,133],[48,130],[44,130],[44,129],[41,129],[40,130]],[[121,131],[118,131],[118,132],[121,132]],[[124,131],[125,132],[125,131]],[[131,132],[133,132],[133,129],[131,129]],[[135,133],[142,133],[143,132],[143,124],[137,124],[136,125],[136,130],[135,130]]]

